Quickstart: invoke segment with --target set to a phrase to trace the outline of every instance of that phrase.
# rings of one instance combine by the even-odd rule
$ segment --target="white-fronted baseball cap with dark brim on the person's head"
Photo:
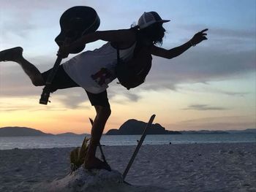
[[[166,23],[170,20],[162,20],[157,12],[144,12],[138,20],[140,28],[146,28],[154,23]]]

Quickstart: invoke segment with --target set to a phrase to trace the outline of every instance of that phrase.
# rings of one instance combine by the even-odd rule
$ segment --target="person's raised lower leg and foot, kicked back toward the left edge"
[[[3,50],[0,52],[0,61],[13,61],[22,67],[23,71],[29,76],[31,82],[35,86],[45,85],[45,81],[42,78],[41,72],[33,64],[29,63],[25,58],[23,58],[23,48],[14,47],[8,50]]]

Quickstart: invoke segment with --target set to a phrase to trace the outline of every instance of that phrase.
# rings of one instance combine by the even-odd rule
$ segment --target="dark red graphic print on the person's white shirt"
[[[108,84],[113,79],[113,75],[106,68],[102,68],[99,72],[91,74],[91,78],[100,86]]]

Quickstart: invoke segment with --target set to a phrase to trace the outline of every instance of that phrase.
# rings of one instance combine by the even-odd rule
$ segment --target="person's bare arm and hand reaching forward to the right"
[[[190,47],[197,45],[203,40],[206,40],[207,39],[206,38],[207,34],[205,33],[206,31],[208,31],[208,28],[195,34],[194,37],[192,37],[192,39],[190,39],[188,42],[184,43],[184,45],[181,45],[179,47],[174,47],[173,49],[170,49],[170,50],[153,46],[151,48],[151,54],[162,57],[162,58],[175,58],[178,55],[181,55],[181,53],[184,53]]]

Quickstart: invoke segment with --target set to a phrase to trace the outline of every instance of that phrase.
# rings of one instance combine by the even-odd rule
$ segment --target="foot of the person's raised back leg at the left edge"
[[[0,52],[0,62],[1,61],[18,61],[22,57],[23,48],[13,47],[8,50],[2,50]]]

